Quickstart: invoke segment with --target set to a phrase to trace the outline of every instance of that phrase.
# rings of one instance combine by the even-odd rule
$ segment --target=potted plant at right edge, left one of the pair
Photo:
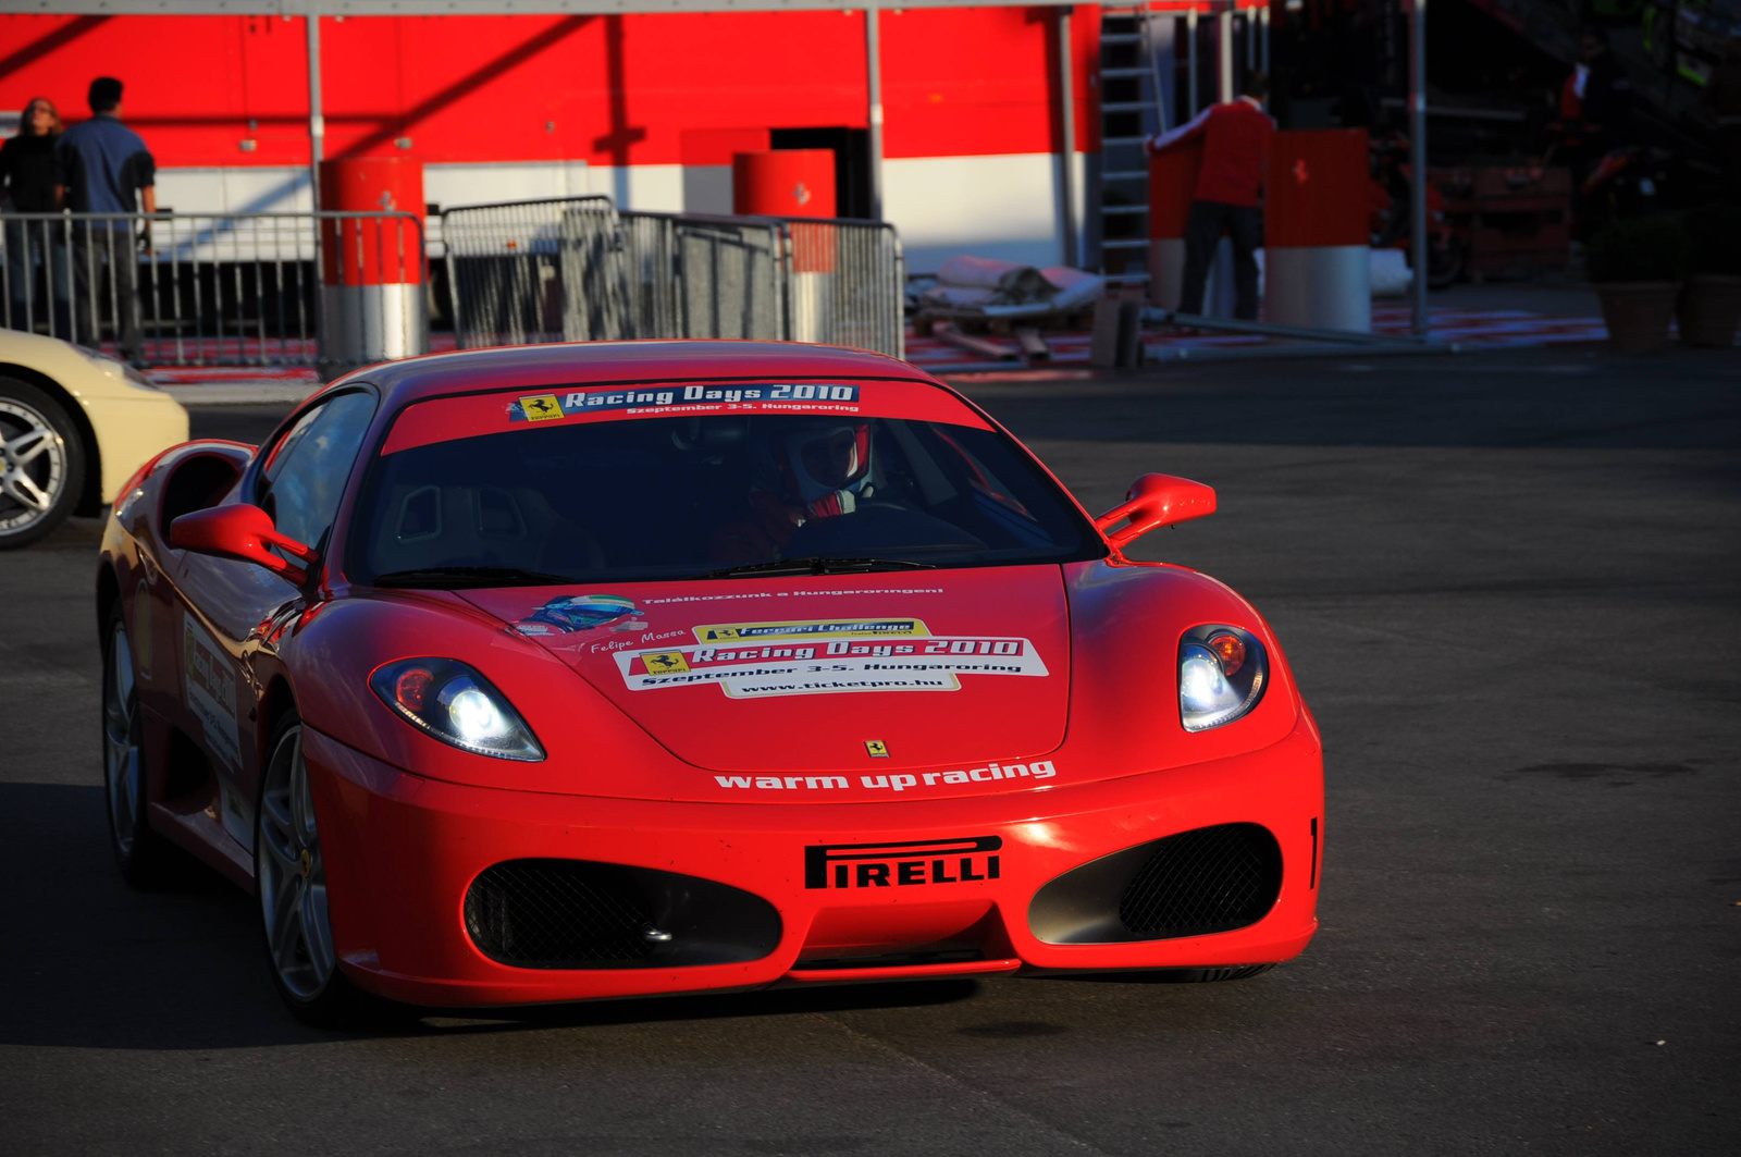
[[[1687,233],[1678,218],[1610,221],[1590,242],[1588,268],[1616,350],[1649,354],[1668,345],[1687,272]]]

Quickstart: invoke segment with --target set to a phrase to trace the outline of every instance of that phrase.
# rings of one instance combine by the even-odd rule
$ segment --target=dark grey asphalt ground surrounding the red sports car
[[[1323,725],[1304,957],[303,1028],[240,892],[113,869],[75,523],[0,558],[0,1152],[1741,1152],[1741,359],[965,385],[1090,509],[1219,490],[1144,551],[1252,598]]]

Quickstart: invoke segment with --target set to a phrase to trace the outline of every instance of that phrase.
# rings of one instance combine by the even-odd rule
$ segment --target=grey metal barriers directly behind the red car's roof
[[[608,197],[442,213],[461,347],[599,338],[763,338],[900,357],[891,225],[630,213]]]

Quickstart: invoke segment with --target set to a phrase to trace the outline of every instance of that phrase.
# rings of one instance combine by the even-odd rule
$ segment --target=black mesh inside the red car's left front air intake
[[[632,967],[653,953],[641,889],[611,864],[515,859],[465,894],[465,927],[484,955],[531,969]]]

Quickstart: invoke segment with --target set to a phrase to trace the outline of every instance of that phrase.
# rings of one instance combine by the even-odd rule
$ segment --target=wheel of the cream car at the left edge
[[[85,444],[66,408],[40,387],[0,376],[0,551],[64,523],[84,483]]]

